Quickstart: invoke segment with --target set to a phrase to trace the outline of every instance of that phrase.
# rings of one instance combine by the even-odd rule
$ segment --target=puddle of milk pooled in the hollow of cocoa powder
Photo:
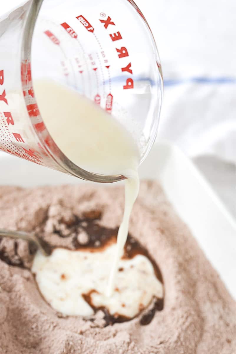
[[[153,297],[163,298],[163,285],[149,259],[136,255],[120,259],[122,271],[116,276],[117,291],[107,297],[107,279],[115,253],[115,244],[94,253],[57,248],[46,257],[38,251],[31,270],[43,297],[58,312],[71,316],[93,315],[93,308],[83,296],[90,294],[95,308],[106,307],[110,315],[133,318]]]

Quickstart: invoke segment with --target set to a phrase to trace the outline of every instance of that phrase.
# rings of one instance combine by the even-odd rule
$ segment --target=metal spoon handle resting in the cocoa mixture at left
[[[0,229],[0,237],[10,237],[13,239],[22,239],[29,242],[32,242],[37,248],[42,252],[44,256],[49,256],[51,254],[51,247],[50,245],[39,238],[37,234],[28,233],[24,231],[10,231],[5,229]]]

